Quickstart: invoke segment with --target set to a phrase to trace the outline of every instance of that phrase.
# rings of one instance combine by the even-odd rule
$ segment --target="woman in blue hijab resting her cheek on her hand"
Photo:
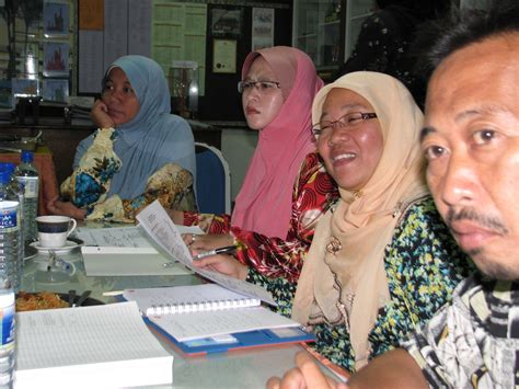
[[[170,114],[161,67],[150,58],[125,56],[107,69],[102,99],[92,108],[100,129],[77,149],[74,171],[60,187],[54,214],[78,219],[134,221],[159,198],[163,206],[196,209],[195,145],[188,124]]]

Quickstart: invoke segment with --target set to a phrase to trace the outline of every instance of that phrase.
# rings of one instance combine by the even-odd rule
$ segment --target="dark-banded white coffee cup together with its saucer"
[[[65,254],[80,248],[82,240],[72,238],[70,234],[78,226],[77,221],[68,216],[38,216],[36,218],[38,240],[30,245],[38,253]]]

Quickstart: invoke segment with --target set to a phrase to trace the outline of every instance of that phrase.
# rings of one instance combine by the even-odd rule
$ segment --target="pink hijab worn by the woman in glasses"
[[[286,239],[293,183],[304,157],[315,150],[311,133],[312,102],[323,81],[307,54],[285,46],[250,53],[243,64],[242,79],[258,56],[274,70],[285,102],[276,118],[260,130],[231,224],[269,238]]]

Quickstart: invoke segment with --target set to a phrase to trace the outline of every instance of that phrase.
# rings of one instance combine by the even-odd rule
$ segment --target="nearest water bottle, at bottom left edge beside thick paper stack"
[[[9,279],[0,277],[0,388],[13,387],[14,373],[14,290]]]

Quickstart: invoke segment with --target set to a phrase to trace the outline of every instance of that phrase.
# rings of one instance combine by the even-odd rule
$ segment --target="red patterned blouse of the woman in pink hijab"
[[[184,225],[199,225],[208,233],[231,232],[239,247],[235,256],[240,262],[266,276],[296,282],[318,220],[337,197],[335,182],[326,173],[318,153],[312,152],[302,162],[293,186],[287,239],[269,238],[231,227],[229,215],[184,213]]]

